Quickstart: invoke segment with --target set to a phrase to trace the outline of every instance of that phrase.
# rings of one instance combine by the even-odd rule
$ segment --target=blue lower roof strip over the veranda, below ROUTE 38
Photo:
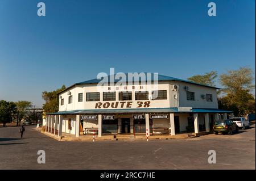
[[[210,109],[210,108],[192,108],[191,111],[178,111],[176,107],[170,108],[131,108],[131,109],[100,109],[100,110],[73,110],[47,113],[47,115],[72,115],[86,113],[150,113],[150,112],[174,112],[174,113],[232,113],[233,111]]]

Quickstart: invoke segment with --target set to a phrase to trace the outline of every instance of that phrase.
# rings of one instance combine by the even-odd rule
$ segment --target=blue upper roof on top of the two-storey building
[[[129,73],[126,73],[125,77],[126,79],[121,81],[121,82],[128,82],[128,78],[129,78]],[[131,73],[132,74],[132,73]],[[147,75],[147,73],[145,73]],[[146,80],[145,81],[153,81],[153,78],[154,78],[154,73],[150,73],[151,74],[151,79],[148,79],[148,77],[146,76]],[[117,75],[117,74],[115,74]],[[115,77],[115,76],[114,76]],[[105,77],[105,79],[107,79]],[[122,78],[120,78],[122,79]],[[112,82],[119,82],[120,79],[114,79],[114,81]],[[60,91],[58,94],[60,94],[61,92],[64,92],[64,91],[67,91],[68,89],[70,89],[71,87],[74,87],[76,85],[84,85],[84,84],[91,84],[91,83],[99,83],[103,80],[102,79],[97,79],[97,78],[94,78],[94,79],[90,79],[88,81],[83,81],[83,82],[79,82],[79,83],[75,83],[74,85],[72,86],[69,86],[67,89],[63,90],[63,91]],[[110,75],[108,75],[108,81],[111,81],[110,79]],[[130,80],[129,80],[130,81]],[[134,77],[133,77],[133,81],[134,81]],[[139,81],[141,81],[141,78],[139,77]],[[193,85],[199,85],[199,86],[204,86],[204,87],[210,87],[210,88],[213,88],[213,89],[221,89],[221,88],[218,88],[218,87],[213,87],[213,86],[208,86],[208,85],[204,85],[204,84],[201,84],[201,83],[196,83],[196,82],[192,82],[192,81],[187,81],[187,80],[183,80],[183,79],[179,79],[179,78],[175,78],[175,77],[169,77],[169,76],[166,76],[166,75],[160,75],[158,74],[158,81],[180,81],[180,82],[186,82],[186,83],[192,83]]]

